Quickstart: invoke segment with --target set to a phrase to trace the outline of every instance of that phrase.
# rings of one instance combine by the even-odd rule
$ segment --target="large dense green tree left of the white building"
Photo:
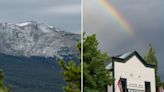
[[[109,71],[105,69],[105,61],[110,58],[98,49],[98,44],[96,35],[84,37],[84,92],[106,92],[107,85],[113,82]]]

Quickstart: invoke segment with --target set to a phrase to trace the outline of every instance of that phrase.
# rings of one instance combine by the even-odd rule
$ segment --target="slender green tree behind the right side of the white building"
[[[155,54],[155,49],[152,47],[151,44],[149,44],[149,51],[145,56],[145,60],[147,63],[155,65],[156,86],[158,88],[159,86],[161,86],[160,76],[158,75],[158,60]]]

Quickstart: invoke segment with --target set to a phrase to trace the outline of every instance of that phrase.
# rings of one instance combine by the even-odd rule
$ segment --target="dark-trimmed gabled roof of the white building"
[[[136,56],[139,61],[141,61],[141,63],[145,66],[145,67],[150,67],[150,68],[155,68],[155,65],[152,64],[148,64],[138,53],[137,51],[134,52],[128,52],[128,53],[124,53],[118,56],[114,56],[112,57],[112,62],[121,62],[121,63],[125,63],[126,61],[128,61],[130,58],[132,58],[133,56]],[[108,66],[106,66],[106,69],[111,70],[112,67],[112,63],[109,64]]]

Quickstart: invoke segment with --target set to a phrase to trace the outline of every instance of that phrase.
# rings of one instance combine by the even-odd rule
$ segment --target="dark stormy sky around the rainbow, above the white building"
[[[148,52],[148,44],[156,49],[159,74],[164,80],[164,0],[109,0],[129,23],[133,34],[122,28],[100,0],[84,0],[84,31],[97,34],[102,51],[117,55]]]

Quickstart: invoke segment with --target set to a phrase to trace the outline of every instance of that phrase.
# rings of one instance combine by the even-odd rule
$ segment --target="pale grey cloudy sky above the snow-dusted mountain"
[[[0,0],[0,22],[40,21],[80,33],[80,0]]]

